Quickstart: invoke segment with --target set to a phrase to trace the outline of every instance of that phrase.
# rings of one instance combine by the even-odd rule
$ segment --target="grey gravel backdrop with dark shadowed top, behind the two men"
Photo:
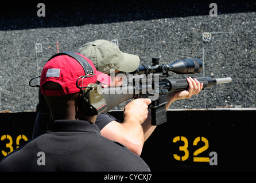
[[[204,47],[205,75],[232,82],[205,90],[205,101],[201,92],[170,109],[256,108],[255,1],[216,1],[217,17],[209,15],[210,1],[45,1],[45,17],[37,16],[38,3],[1,6],[0,112],[36,110],[38,89],[28,83],[57,53],[57,43],[59,51],[77,51],[95,39],[118,39],[122,51],[147,65],[152,57],[160,63],[202,61]],[[204,32],[212,32],[210,42],[202,41]]]

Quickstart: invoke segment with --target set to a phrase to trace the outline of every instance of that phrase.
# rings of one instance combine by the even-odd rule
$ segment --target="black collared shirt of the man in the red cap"
[[[100,136],[88,121],[57,120],[49,130],[8,154],[0,171],[150,171],[136,154]]]

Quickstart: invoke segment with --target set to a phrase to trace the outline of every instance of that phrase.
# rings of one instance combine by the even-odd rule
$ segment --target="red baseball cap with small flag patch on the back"
[[[77,53],[79,54],[79,53]],[[79,86],[87,86],[89,83],[96,83],[96,81],[102,82],[104,84],[110,84],[111,78],[109,75],[101,73],[96,70],[92,61],[84,55],[82,56],[94,70],[94,75],[89,75],[91,77],[80,78],[78,81]],[[45,96],[60,97],[67,94],[80,92],[80,88],[76,86],[77,79],[83,75],[86,75],[83,66],[69,55],[58,55],[53,57],[48,62],[46,62],[41,73],[40,89],[41,93]],[[62,90],[45,90],[42,85],[46,82],[52,81],[59,83]]]

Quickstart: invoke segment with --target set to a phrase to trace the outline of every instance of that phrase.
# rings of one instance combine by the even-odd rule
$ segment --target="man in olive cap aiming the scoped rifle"
[[[117,45],[103,39],[88,42],[77,52],[91,59],[96,69],[102,73],[110,74],[110,76],[115,75],[114,78],[111,77],[112,83],[108,86],[121,86],[125,76],[119,73],[132,72],[139,66],[137,55],[123,53]],[[173,92],[168,95],[166,110],[173,101],[190,98],[201,91],[203,83],[200,84],[199,81],[191,77],[187,78],[187,81],[188,90]],[[106,85],[103,84],[103,86]],[[125,117],[124,121],[121,122],[110,114],[101,113],[96,118],[96,125],[99,126],[102,136],[126,145],[128,149],[140,156],[144,141],[156,128],[156,126],[151,125],[150,117],[151,113],[149,112],[148,118],[138,124],[134,123],[132,117]]]

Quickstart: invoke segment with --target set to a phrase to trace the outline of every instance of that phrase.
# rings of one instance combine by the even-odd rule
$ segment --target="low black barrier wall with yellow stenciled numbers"
[[[0,113],[0,160],[32,137],[36,112]],[[122,111],[111,115],[122,120]],[[168,110],[141,157],[152,171],[253,170],[256,109]]]

